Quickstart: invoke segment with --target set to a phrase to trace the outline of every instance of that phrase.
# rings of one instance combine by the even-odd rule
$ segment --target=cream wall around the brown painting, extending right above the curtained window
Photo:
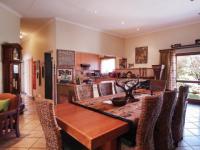
[[[192,44],[195,39],[200,39],[200,23],[129,38],[125,41],[126,57],[128,63],[135,64],[135,48],[148,46],[148,63],[135,64],[134,67],[151,67],[159,63],[160,49],[170,48],[175,43]]]

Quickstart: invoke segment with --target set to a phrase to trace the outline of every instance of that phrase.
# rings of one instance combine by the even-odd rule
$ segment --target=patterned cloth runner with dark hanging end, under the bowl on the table
[[[74,104],[81,107],[90,109],[95,112],[99,112],[113,118],[117,118],[123,121],[126,121],[129,124],[130,130],[127,134],[123,135],[121,141],[128,146],[134,146],[136,141],[136,129],[137,123],[141,113],[141,100],[145,96],[150,96],[149,94],[136,94],[135,98],[138,98],[139,101],[127,103],[124,106],[118,107],[113,106],[110,101],[114,97],[125,96],[124,93],[102,96],[97,98],[91,98],[80,101],[73,101]]]

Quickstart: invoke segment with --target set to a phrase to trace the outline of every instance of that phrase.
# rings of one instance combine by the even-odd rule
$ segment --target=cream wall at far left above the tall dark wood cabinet
[[[4,42],[19,43],[20,17],[0,4],[0,45]],[[0,92],[2,92],[2,60],[0,47]]]

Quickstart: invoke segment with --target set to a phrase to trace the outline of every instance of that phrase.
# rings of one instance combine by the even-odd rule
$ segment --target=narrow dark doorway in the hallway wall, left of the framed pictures
[[[51,53],[44,53],[44,70],[45,70],[45,98],[52,99],[53,80],[52,80],[52,57]]]

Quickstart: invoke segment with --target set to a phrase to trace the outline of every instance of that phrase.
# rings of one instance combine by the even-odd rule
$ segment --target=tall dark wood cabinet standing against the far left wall
[[[17,43],[2,44],[3,92],[20,94],[22,47]]]

